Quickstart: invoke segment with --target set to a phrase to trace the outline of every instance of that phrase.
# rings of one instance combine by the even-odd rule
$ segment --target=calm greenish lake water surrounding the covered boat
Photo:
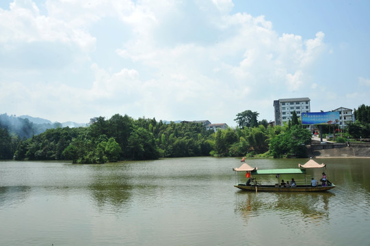
[[[240,191],[232,158],[2,161],[0,245],[370,245],[370,159],[317,161],[335,189]]]

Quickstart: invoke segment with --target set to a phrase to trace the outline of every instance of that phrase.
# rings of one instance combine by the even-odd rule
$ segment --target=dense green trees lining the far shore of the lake
[[[286,126],[258,121],[258,115],[250,110],[238,113],[237,128],[217,132],[207,131],[200,123],[166,124],[155,118],[135,120],[120,114],[107,120],[99,117],[87,127],[49,128],[29,138],[21,138],[0,125],[0,159],[105,163],[209,155],[306,157],[305,146],[311,141],[311,133],[302,128],[295,112]],[[356,124],[364,133],[369,122]]]

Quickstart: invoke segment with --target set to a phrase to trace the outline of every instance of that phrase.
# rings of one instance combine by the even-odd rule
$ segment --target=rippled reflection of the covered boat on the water
[[[307,223],[328,221],[330,199],[334,193],[253,193],[238,191],[235,213],[245,221],[251,217],[279,213],[283,224],[291,222],[291,217]],[[285,220],[289,217],[289,220]]]

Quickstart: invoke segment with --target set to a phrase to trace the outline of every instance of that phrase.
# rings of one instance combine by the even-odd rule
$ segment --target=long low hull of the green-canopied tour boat
[[[311,187],[305,185],[299,185],[298,187],[275,187],[273,185],[257,185],[257,186],[248,186],[246,184],[235,184],[234,187],[237,187],[243,191],[270,191],[270,192],[319,192],[319,191],[328,191],[335,187],[334,184],[326,187]]]

